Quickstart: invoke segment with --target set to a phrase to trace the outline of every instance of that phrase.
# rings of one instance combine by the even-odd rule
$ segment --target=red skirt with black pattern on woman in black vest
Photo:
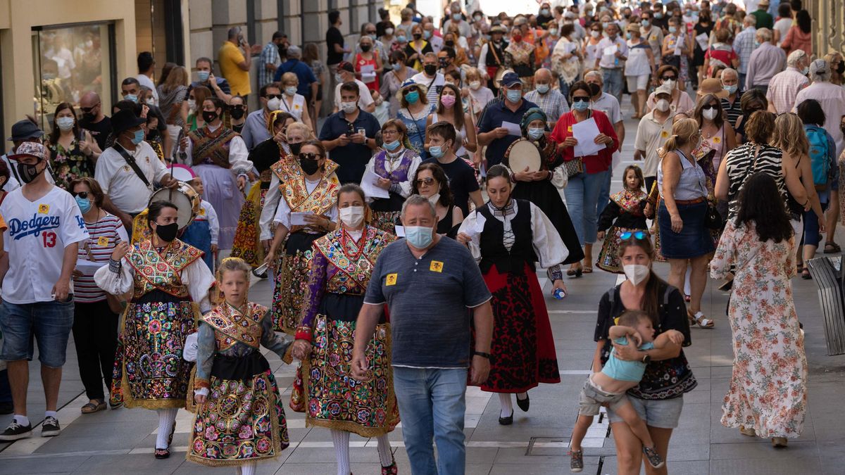
[[[489,392],[525,392],[539,383],[559,383],[552,325],[537,274],[527,264],[522,273],[484,274],[493,294],[493,342],[490,376],[481,385]]]

